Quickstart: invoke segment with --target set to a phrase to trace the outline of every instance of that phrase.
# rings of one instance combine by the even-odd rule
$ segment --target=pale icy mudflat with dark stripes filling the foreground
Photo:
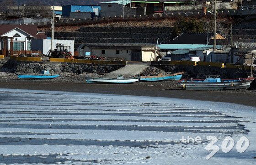
[[[0,164],[256,164],[255,126],[256,108],[239,104],[0,89]]]

